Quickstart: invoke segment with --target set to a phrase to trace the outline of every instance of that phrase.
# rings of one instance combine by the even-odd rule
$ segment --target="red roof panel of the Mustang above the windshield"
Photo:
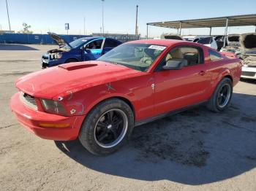
[[[185,41],[182,40],[174,40],[174,39],[145,39],[145,40],[136,40],[136,41],[130,41],[127,43],[137,43],[137,44],[156,44],[156,45],[162,45],[169,47],[173,44],[182,43]]]

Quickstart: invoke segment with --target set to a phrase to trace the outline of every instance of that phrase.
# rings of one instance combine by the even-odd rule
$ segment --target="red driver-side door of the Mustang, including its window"
[[[185,59],[187,66],[178,70],[162,69],[171,59]],[[209,85],[203,50],[197,46],[173,47],[154,71],[155,111],[162,114],[205,101]]]

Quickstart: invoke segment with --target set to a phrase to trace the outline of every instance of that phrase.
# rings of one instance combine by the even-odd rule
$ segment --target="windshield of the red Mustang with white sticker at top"
[[[166,47],[154,44],[121,44],[102,55],[98,61],[116,63],[146,71]]]

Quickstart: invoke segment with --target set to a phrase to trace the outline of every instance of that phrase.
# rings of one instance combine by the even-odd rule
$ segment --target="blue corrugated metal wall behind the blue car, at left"
[[[59,35],[67,42],[86,37],[85,35]],[[7,44],[55,44],[48,34],[2,34],[0,43]]]

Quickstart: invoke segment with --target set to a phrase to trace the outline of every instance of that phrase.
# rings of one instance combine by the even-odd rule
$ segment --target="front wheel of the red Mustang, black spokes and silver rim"
[[[111,98],[91,109],[78,138],[94,155],[108,155],[124,145],[133,127],[134,115],[129,105]]]

